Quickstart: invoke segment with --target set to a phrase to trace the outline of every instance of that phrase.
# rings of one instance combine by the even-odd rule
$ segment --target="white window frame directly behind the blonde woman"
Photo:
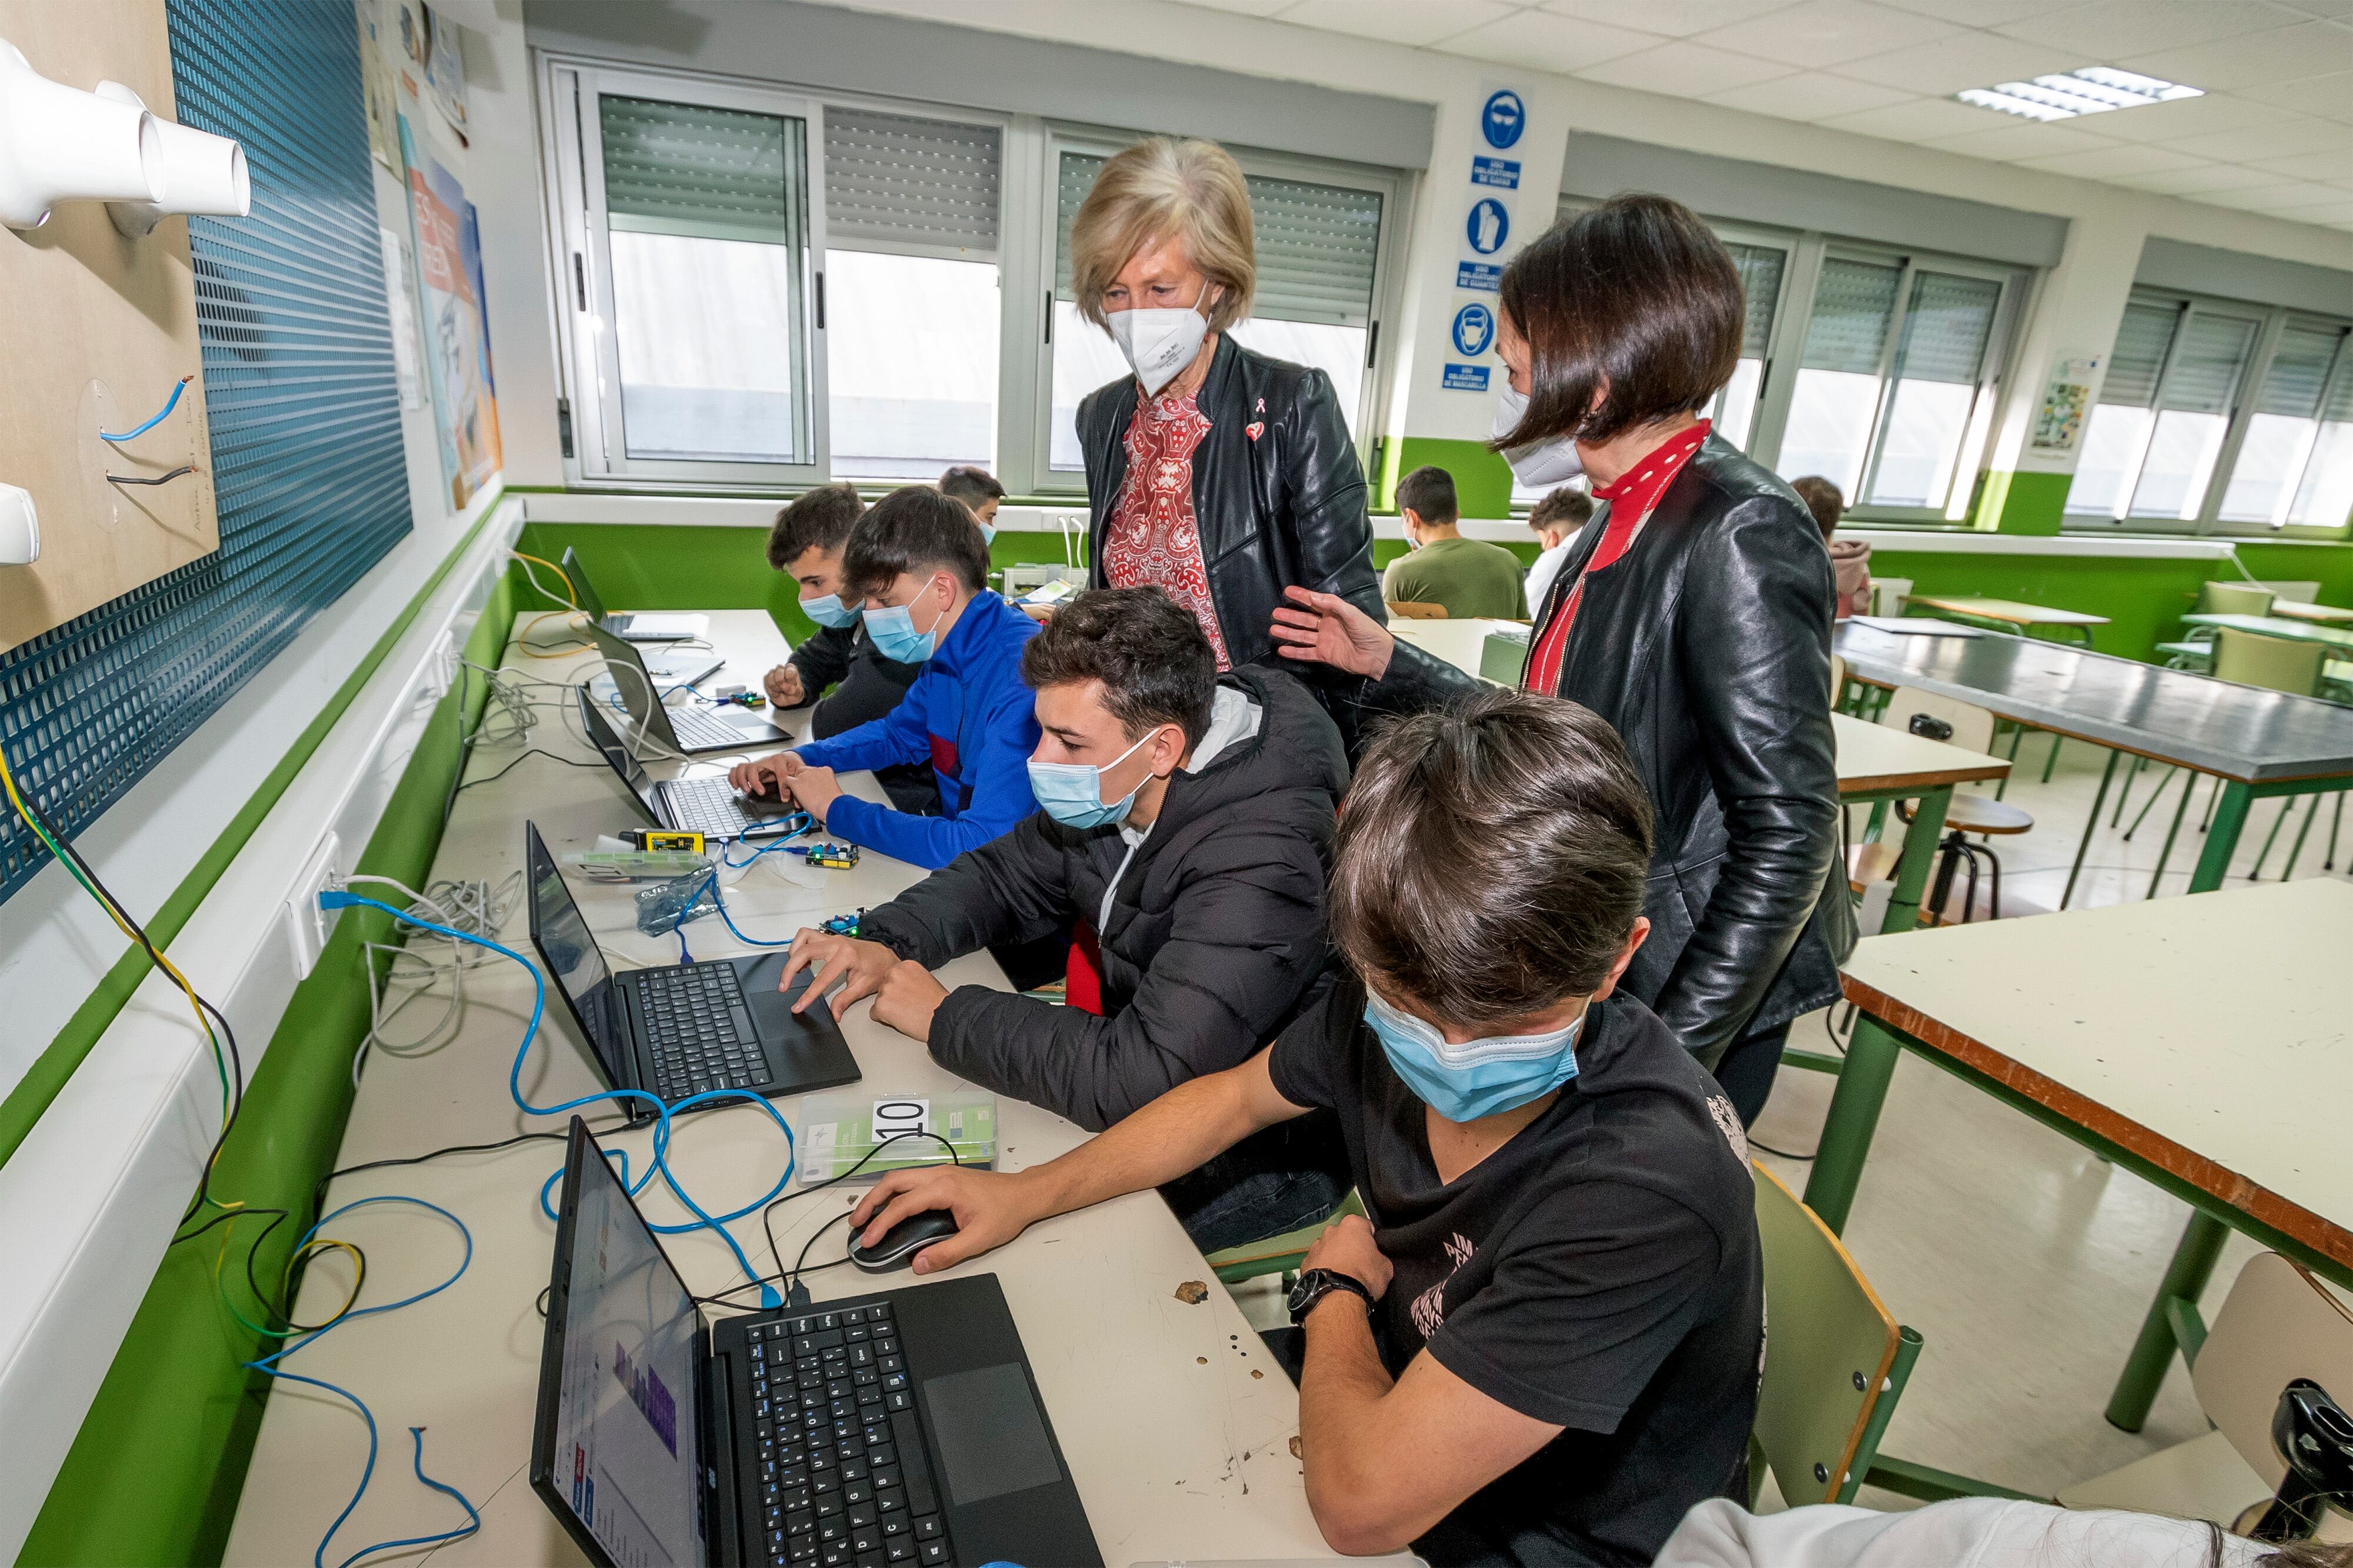
[[[1038,301],[1042,315],[1035,324],[1031,339],[1033,369],[1031,369],[1031,395],[1028,407],[1028,433],[1021,451],[1028,454],[1028,484],[1021,494],[1033,496],[1085,496],[1087,473],[1085,468],[1061,470],[1052,465],[1054,447],[1054,275],[1056,256],[1061,249],[1061,209],[1056,193],[1061,188],[1061,155],[1080,153],[1087,158],[1111,158],[1125,146],[1136,143],[1151,132],[1125,132],[1104,125],[1075,125],[1064,120],[1040,122],[1040,150],[1035,188],[1040,193],[1038,216],[1035,216],[1035,242],[1038,242],[1038,277],[1028,294]],[[1395,294],[1402,266],[1402,247],[1407,242],[1409,223],[1400,223],[1398,216],[1405,202],[1414,197],[1414,181],[1409,169],[1384,169],[1377,165],[1351,165],[1325,158],[1306,158],[1297,153],[1268,153],[1247,146],[1226,146],[1233,160],[1242,165],[1242,174],[1257,174],[1261,179],[1287,179],[1313,186],[1344,186],[1348,190],[1372,190],[1381,197],[1381,235],[1374,242],[1372,259],[1372,299],[1367,301],[1367,355],[1365,355],[1365,378],[1358,388],[1355,407],[1355,456],[1365,465],[1367,480],[1372,477],[1372,449],[1384,440],[1388,418],[1388,397],[1395,367],[1395,334],[1381,331],[1381,322],[1395,315]],[[1012,433],[1007,433],[1009,437]],[[1009,442],[1000,440],[1000,463],[1002,454],[1012,451]],[[1108,505],[1111,498],[1104,498]]]

